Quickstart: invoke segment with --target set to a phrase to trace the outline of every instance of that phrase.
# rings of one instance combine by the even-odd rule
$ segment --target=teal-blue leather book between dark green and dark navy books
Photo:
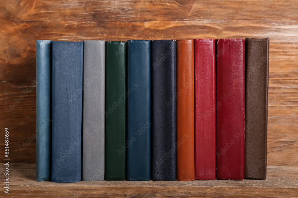
[[[150,40],[128,41],[128,181],[150,180]]]

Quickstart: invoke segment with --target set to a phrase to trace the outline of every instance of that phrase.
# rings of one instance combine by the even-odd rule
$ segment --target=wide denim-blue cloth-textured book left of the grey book
[[[52,182],[81,180],[83,42],[52,42]]]

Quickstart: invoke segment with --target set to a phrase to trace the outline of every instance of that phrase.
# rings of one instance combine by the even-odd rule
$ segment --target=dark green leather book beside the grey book
[[[105,180],[125,180],[125,41],[107,41],[105,54]]]

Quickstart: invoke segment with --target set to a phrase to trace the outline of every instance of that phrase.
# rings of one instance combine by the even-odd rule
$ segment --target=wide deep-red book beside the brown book
[[[244,179],[244,39],[218,39],[216,177]]]

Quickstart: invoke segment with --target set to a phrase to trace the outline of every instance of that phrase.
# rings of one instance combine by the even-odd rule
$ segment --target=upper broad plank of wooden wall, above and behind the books
[[[4,10],[7,5],[5,1],[0,2]],[[246,37],[271,39],[271,79],[298,80],[297,9],[295,0],[283,3],[257,0],[17,1],[0,18],[0,38],[7,41],[0,45],[0,81],[35,79],[36,39]]]

